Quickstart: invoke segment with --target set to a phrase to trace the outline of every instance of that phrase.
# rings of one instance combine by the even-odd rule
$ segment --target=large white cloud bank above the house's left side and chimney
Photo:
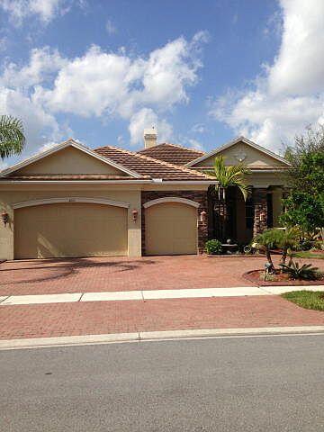
[[[64,58],[48,47],[32,49],[27,64],[4,65],[0,109],[23,120],[29,151],[73,134],[58,120],[67,121],[66,114],[127,121],[133,145],[152,124],[159,139],[169,139],[167,113],[189,101],[188,88],[198,81],[202,66],[204,38],[201,32],[191,41],[170,41],[147,58],[96,46],[76,58]]]

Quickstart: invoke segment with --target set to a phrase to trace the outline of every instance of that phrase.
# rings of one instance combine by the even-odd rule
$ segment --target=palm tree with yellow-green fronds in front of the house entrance
[[[247,166],[242,164],[226,166],[225,159],[222,156],[215,157],[213,169],[209,171],[210,175],[214,176],[218,180],[218,184],[215,185],[215,190],[218,193],[218,199],[222,206],[222,237],[225,237],[225,229],[227,222],[227,206],[226,206],[226,190],[229,186],[236,186],[242,193],[244,201],[247,200],[249,192],[248,185],[245,183],[244,175],[250,174],[250,170]]]

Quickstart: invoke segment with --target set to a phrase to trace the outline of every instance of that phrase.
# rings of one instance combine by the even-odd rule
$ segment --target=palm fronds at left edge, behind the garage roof
[[[25,137],[23,121],[11,115],[0,116],[0,157],[19,155],[23,151]]]

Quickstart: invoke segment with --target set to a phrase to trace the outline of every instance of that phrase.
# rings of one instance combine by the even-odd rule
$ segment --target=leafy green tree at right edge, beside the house
[[[317,228],[323,236],[324,225],[324,127],[309,127],[287,148],[285,157],[292,164],[289,170],[291,191],[284,200],[281,222],[287,227],[299,226],[309,236]]]

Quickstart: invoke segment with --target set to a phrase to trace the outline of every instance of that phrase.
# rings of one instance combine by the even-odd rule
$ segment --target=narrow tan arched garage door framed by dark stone
[[[145,209],[147,255],[197,253],[197,209],[180,202],[162,202]]]

